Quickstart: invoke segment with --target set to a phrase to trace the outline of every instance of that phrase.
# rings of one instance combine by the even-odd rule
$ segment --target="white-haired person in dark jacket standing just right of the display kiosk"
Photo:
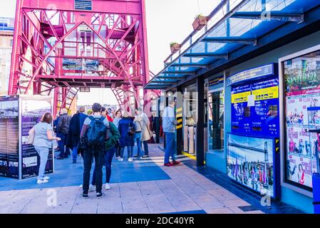
[[[70,154],[70,149],[66,147],[70,120],[71,116],[68,115],[68,110],[66,110],[66,108],[61,109],[57,125],[57,136],[61,138],[58,142],[60,155],[58,155],[57,159],[59,160],[68,158],[68,155]]]

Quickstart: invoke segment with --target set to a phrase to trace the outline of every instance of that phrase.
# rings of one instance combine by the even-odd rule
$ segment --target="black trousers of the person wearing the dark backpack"
[[[93,150],[86,149],[83,153],[83,194],[88,194],[89,191],[89,182],[90,182],[90,171],[92,159],[95,159],[95,174],[96,174],[96,192],[101,192],[102,190],[102,166],[103,166],[103,158],[105,152],[103,149]]]

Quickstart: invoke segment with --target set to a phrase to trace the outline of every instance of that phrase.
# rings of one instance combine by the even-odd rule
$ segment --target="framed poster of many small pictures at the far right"
[[[320,127],[317,112],[309,107],[320,106],[319,51],[284,61],[287,130],[287,182],[308,190],[312,172],[316,172],[317,137],[306,129]],[[308,116],[309,115],[309,116]],[[312,168],[311,168],[312,164]]]

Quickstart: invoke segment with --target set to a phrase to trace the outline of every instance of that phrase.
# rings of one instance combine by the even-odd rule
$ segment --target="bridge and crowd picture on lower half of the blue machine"
[[[274,139],[228,134],[227,175],[262,195],[275,197]]]

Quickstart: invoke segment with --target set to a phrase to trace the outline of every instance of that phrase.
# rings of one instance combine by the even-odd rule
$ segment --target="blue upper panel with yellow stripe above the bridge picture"
[[[279,79],[232,86],[232,133],[279,136]]]

